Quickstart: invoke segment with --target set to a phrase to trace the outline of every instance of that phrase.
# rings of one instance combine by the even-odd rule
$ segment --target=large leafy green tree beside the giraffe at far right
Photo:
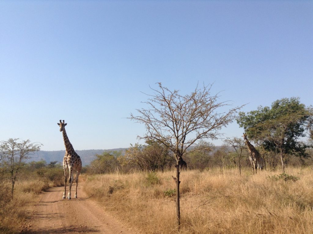
[[[310,114],[299,98],[283,98],[271,107],[258,107],[256,111],[240,112],[237,122],[254,141],[260,141],[266,150],[280,153],[282,171],[285,172],[284,154],[305,156],[306,146],[299,141],[305,136]]]

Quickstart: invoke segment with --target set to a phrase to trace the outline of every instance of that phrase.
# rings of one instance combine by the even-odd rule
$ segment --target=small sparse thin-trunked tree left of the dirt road
[[[31,143],[30,140],[18,142],[19,138],[9,138],[7,141],[1,141],[0,149],[4,156],[4,166],[8,168],[11,174],[13,198],[14,184],[18,177],[21,162],[28,159],[29,155],[40,150],[40,143]]]

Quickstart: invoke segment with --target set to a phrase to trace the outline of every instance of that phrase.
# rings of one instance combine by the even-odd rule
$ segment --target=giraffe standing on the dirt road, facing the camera
[[[60,126],[60,132],[63,132],[63,140],[64,140],[64,145],[65,145],[65,155],[63,158],[63,168],[64,168],[64,193],[63,193],[63,199],[65,198],[66,194],[66,183],[67,183],[67,168],[69,169],[69,193],[67,195],[68,199],[71,199],[71,188],[72,188],[72,183],[73,183],[73,174],[72,171],[76,171],[76,191],[75,191],[75,198],[77,198],[77,185],[78,185],[78,176],[80,174],[81,170],[81,160],[80,156],[75,152],[72,144],[69,142],[69,138],[67,137],[66,131],[65,131],[65,126],[67,123],[61,122],[58,123]]]

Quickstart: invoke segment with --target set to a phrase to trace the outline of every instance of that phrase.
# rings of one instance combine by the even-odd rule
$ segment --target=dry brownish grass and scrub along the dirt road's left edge
[[[62,185],[62,175],[63,170],[58,168],[23,171],[16,181],[12,198],[10,179],[7,174],[0,173],[0,233],[20,233],[28,217],[28,206],[40,192]]]

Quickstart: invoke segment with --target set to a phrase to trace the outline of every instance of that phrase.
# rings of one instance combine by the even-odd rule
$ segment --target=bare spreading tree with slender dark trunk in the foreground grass
[[[221,127],[235,118],[240,107],[225,112],[228,102],[218,102],[218,94],[211,96],[210,86],[203,86],[191,93],[181,95],[178,90],[171,91],[161,83],[158,89],[151,88],[154,94],[148,95],[143,102],[148,107],[137,109],[138,115],[131,114],[130,119],[144,123],[146,134],[141,139],[155,140],[168,147],[176,159],[176,213],[177,227],[180,226],[179,162],[187,149],[198,140],[216,139]]]

